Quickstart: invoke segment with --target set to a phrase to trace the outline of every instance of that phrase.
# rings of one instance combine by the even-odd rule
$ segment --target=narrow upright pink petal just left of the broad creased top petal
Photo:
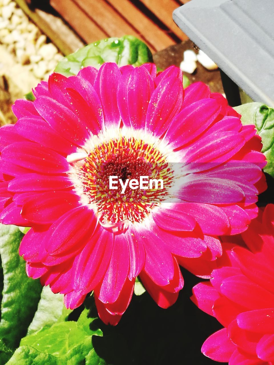
[[[94,82],[94,88],[103,105],[105,126],[118,127],[121,116],[117,105],[117,88],[121,72],[114,63],[103,64]]]

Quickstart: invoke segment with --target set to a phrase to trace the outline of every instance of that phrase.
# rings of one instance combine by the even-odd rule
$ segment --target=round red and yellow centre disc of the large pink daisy
[[[106,227],[125,221],[141,222],[146,218],[153,207],[168,199],[174,183],[173,173],[167,155],[155,143],[124,135],[96,143],[78,166],[81,195],[96,207],[100,223]],[[127,184],[122,192],[120,183],[115,185],[117,189],[110,188],[110,176],[117,176],[123,184],[128,179],[139,182],[140,177],[155,180],[151,187],[147,184],[146,189],[140,184],[134,189]],[[156,186],[156,180],[160,179],[162,188],[160,184]]]

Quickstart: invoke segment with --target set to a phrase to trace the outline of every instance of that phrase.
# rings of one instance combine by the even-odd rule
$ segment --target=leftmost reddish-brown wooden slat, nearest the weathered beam
[[[85,12],[83,12],[72,0],[50,0],[50,5],[62,15],[87,43],[109,37],[109,34],[92,22],[87,14],[85,14]]]

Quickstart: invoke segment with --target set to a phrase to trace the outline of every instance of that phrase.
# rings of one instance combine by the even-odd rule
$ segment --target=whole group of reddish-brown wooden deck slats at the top
[[[86,43],[134,35],[152,53],[187,39],[172,12],[190,0],[50,0],[50,5]]]

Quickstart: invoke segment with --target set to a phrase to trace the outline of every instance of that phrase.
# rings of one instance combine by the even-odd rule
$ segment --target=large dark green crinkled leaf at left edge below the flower
[[[0,339],[15,349],[26,335],[42,290],[39,280],[27,277],[26,263],[18,247],[23,234],[15,226],[0,225],[0,255],[4,284],[1,302]]]

